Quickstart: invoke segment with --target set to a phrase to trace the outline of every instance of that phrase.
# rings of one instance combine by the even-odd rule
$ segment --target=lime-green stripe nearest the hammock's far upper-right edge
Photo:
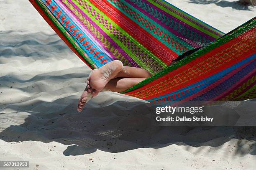
[[[211,32],[209,32],[208,30],[205,30],[205,29],[201,28],[200,26],[198,26],[198,25],[196,25],[196,24],[194,24],[194,23],[191,23],[189,20],[186,20],[186,19],[182,18],[181,16],[179,16],[179,15],[177,15],[177,14],[171,12],[170,10],[164,8],[163,6],[159,5],[158,3],[155,3],[155,2],[153,2],[152,0],[147,0],[147,1],[148,1],[149,3],[155,5],[156,7],[160,8],[161,10],[165,11],[166,13],[169,13],[170,15],[174,16],[175,18],[177,18],[177,19],[183,21],[184,23],[187,23],[188,25],[190,25],[190,26],[196,28],[197,30],[200,30],[201,32],[206,33],[207,35],[212,36],[213,38],[220,38],[219,36],[216,36],[214,33],[211,33]],[[166,5],[170,6],[169,4],[166,4]],[[170,6],[170,7],[171,7],[171,6]],[[171,7],[171,8],[172,8],[172,7]],[[176,10],[176,9],[175,9],[175,10]],[[184,13],[184,15],[186,15],[186,14]],[[186,16],[188,16],[189,18],[191,18],[191,16],[189,16],[189,15],[186,15]],[[191,19],[195,20],[194,18],[191,18]],[[195,21],[197,21],[197,20],[195,20]],[[197,21],[197,22],[198,22],[198,21]],[[205,24],[204,24],[204,25],[205,25]],[[207,26],[207,25],[205,25],[205,26]],[[209,27],[208,27],[208,28],[209,28]],[[210,29],[212,30],[212,28],[210,28]]]

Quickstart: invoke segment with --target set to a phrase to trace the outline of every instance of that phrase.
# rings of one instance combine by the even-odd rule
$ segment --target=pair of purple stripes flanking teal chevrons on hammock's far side
[[[189,30],[192,30],[193,32],[200,34],[201,36],[205,37],[206,39],[208,38],[210,41],[215,40],[215,38],[213,38],[213,37],[211,37],[211,36],[209,36],[209,35],[207,35],[207,34],[201,32],[200,30],[195,29],[194,27],[192,27],[192,26],[190,26],[190,25],[188,25],[188,24],[182,22],[181,20],[178,20],[178,19],[175,18],[174,16],[170,15],[169,13],[166,13],[165,11],[161,10],[160,8],[157,8],[155,5],[149,3],[148,1],[146,1],[146,0],[141,0],[141,2],[143,2],[143,3],[147,4],[148,6],[152,7],[154,10],[160,11],[161,14],[164,14],[165,16],[169,17],[170,19],[176,21],[177,24],[179,23],[180,25],[183,25],[185,28],[189,28]],[[177,35],[178,37],[184,37],[184,36],[182,36],[181,33],[178,33],[177,31],[173,30],[172,28],[170,28],[169,26],[167,26],[166,24],[162,23],[160,20],[158,20],[157,18],[155,18],[153,15],[150,15],[148,12],[146,12],[146,11],[143,10],[142,8],[138,7],[138,5],[132,3],[131,0],[129,0],[128,3],[129,3],[130,5],[132,5],[134,8],[136,8],[137,10],[139,10],[141,13],[143,13],[143,14],[146,15],[146,16],[148,16],[149,18],[151,18],[152,20],[154,20],[156,23],[158,23],[159,25],[161,25],[162,27],[164,27],[166,30],[172,32],[174,35]],[[193,36],[193,35],[192,35],[192,36]],[[184,37],[184,38],[185,38],[185,37]],[[181,39],[183,40],[184,38],[181,38]],[[185,38],[185,39],[187,39],[187,38]],[[193,41],[193,40],[190,40],[190,41],[187,41],[187,42],[189,42],[189,44],[190,44],[191,41]],[[209,41],[209,42],[210,42],[210,41]],[[203,42],[203,43],[209,43],[209,42]],[[198,46],[198,44],[197,44],[197,46]],[[199,46],[198,46],[198,47],[199,47]]]

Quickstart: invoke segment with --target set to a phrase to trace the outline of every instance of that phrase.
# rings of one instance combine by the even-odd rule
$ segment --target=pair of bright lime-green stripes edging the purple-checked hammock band
[[[90,5],[91,8],[93,8],[95,10],[96,13],[100,13],[101,16],[103,16],[104,20],[108,20],[109,23],[111,23],[112,25],[115,25],[115,29],[118,29],[120,32],[123,33],[123,35],[125,35],[130,41],[132,41],[137,47],[141,48],[141,51],[143,51],[144,53],[146,53],[149,57],[152,58],[152,60],[156,61],[160,66],[162,66],[163,68],[166,67],[167,65],[161,61],[158,57],[154,56],[154,54],[152,54],[150,51],[148,51],[144,46],[142,46],[140,43],[138,43],[138,41],[136,41],[133,37],[131,37],[127,32],[125,32],[125,30],[123,30],[122,28],[120,28],[113,20],[111,20],[110,18],[108,18],[108,16],[106,16],[102,11],[100,11],[97,7],[95,7],[95,5],[93,5],[92,3],[90,3],[90,1],[86,0],[87,5]],[[79,3],[77,1],[74,1],[74,3],[86,14],[87,10],[85,10],[81,5],[79,5]],[[99,20],[95,20],[93,18],[92,15],[87,15],[89,18],[91,18],[105,33],[107,33],[108,35],[113,35],[112,33],[110,33],[110,30],[107,30],[106,27],[102,26],[102,23],[99,22]],[[123,51],[125,51],[125,53],[127,53],[130,57],[133,58],[134,61],[136,61],[136,63],[138,63],[139,66],[141,66],[143,69],[146,69],[148,71],[150,71],[151,73],[155,72],[153,70],[150,69],[150,67],[148,67],[143,61],[141,61],[138,56],[134,55],[126,46],[123,45],[122,42],[120,42],[120,40],[118,40],[115,36],[110,36],[110,38],[113,39],[113,41],[115,41],[115,43],[117,43],[122,49]]]

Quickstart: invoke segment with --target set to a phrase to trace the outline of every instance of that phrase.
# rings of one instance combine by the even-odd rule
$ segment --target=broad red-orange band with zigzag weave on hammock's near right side
[[[210,58],[210,56],[212,56],[212,55],[214,55],[214,54],[217,54],[217,53],[219,53],[219,52],[221,52],[221,51],[224,51],[224,50],[227,49],[228,47],[230,47],[230,46],[232,46],[232,45],[238,43],[238,42],[241,41],[241,40],[243,40],[243,39],[244,39],[243,37],[246,37],[246,35],[251,35],[251,34],[253,34],[253,32],[255,32],[255,31],[256,31],[256,28],[252,28],[251,30],[248,30],[246,33],[243,33],[243,34],[241,34],[240,36],[238,36],[238,37],[236,37],[236,38],[230,40],[228,43],[225,43],[225,44],[219,46],[218,48],[215,48],[215,49],[213,49],[212,51],[207,52],[206,54],[200,56],[199,58],[196,58],[195,60],[193,60],[193,61],[191,61],[191,62],[185,64],[184,66],[181,66],[181,67],[179,67],[178,69],[175,69],[174,71],[171,71],[171,72],[169,72],[168,74],[165,74],[164,76],[161,76],[160,78],[154,80],[153,82],[150,82],[150,83],[146,84],[145,86],[143,86],[143,87],[141,87],[141,88],[139,88],[139,89],[133,90],[133,91],[128,92],[128,93],[125,93],[125,94],[130,95],[130,96],[133,96],[134,93],[136,93],[136,92],[138,92],[138,91],[141,91],[141,90],[143,90],[143,89],[148,89],[148,88],[151,88],[151,89],[152,89],[152,86],[154,86],[154,85],[156,85],[156,84],[159,84],[159,83],[161,83],[162,81],[164,81],[164,80],[166,80],[166,79],[170,79],[170,78],[174,77],[175,75],[177,75],[177,74],[179,74],[179,73],[181,73],[181,72],[183,72],[183,71],[186,71],[188,68],[191,68],[192,66],[197,65],[198,63],[201,63],[201,64],[198,66],[198,68],[203,68],[204,66],[202,65],[202,61],[205,61],[207,58]],[[254,44],[254,43],[251,43],[251,47],[253,46],[253,44]],[[238,46],[243,46],[243,44],[234,46],[233,48],[236,48],[236,47],[238,47]],[[250,48],[250,47],[247,47],[246,49],[248,49],[248,48]],[[241,48],[240,48],[240,49],[241,49]],[[246,49],[244,49],[244,50],[246,50]],[[227,52],[228,52],[228,51],[227,51]],[[224,69],[227,69],[228,67],[230,67],[230,66],[232,66],[232,65],[234,65],[234,64],[236,64],[236,63],[238,63],[238,62],[240,62],[240,61],[242,61],[242,60],[245,59],[245,58],[247,58],[248,56],[251,56],[253,53],[254,53],[253,50],[248,50],[246,53],[243,53],[242,55],[241,55],[241,53],[236,53],[236,52],[235,52],[235,55],[234,55],[234,56],[232,55],[232,59],[231,59],[230,61],[228,61],[227,63],[225,63],[225,65],[219,66],[218,64],[213,63],[211,66],[208,66],[207,69],[212,69],[213,67],[216,67],[216,68],[212,69],[210,72],[207,72],[206,74],[202,74],[202,75],[200,75],[200,76],[197,76],[197,74],[195,74],[195,76],[189,78],[189,81],[187,81],[187,82],[185,82],[185,83],[183,83],[183,84],[180,84],[179,86],[175,86],[175,87],[173,87],[173,88],[172,88],[172,87],[166,88],[166,90],[165,90],[165,91],[162,91],[161,93],[159,93],[159,92],[156,90],[155,93],[154,93],[154,95],[148,96],[148,97],[145,97],[145,98],[144,98],[144,97],[141,97],[141,98],[142,98],[142,99],[152,99],[153,97],[162,96],[162,95],[167,94],[167,93],[170,93],[170,92],[172,92],[172,91],[176,91],[176,90],[178,90],[178,89],[182,89],[182,88],[184,88],[185,86],[189,86],[190,84],[194,84],[194,83],[196,83],[196,82],[198,82],[198,81],[201,81],[201,80],[203,80],[203,79],[205,79],[205,78],[207,78],[207,77],[209,77],[209,76],[212,76],[212,75],[214,75],[214,74],[217,74],[218,72],[223,71]],[[220,55],[216,56],[216,58],[219,57],[219,56],[221,56],[221,55],[223,55],[223,54],[220,54]],[[230,58],[231,58],[231,56],[230,56],[230,57],[227,57],[227,58],[224,58],[223,61],[225,61],[225,60],[227,60],[227,59],[230,59]],[[223,62],[223,61],[222,61],[222,62]],[[209,62],[210,62],[210,61],[209,61]],[[189,75],[189,72],[188,72],[187,74]],[[181,76],[184,76],[184,75],[181,75]],[[178,77],[176,77],[176,78],[174,78],[174,79],[178,79]],[[187,78],[187,79],[188,79],[188,78]],[[185,78],[185,80],[187,80],[187,79]],[[178,81],[178,80],[177,80],[177,81]],[[179,83],[180,81],[182,81],[182,80],[179,80],[178,82],[176,82],[176,84]],[[167,86],[167,87],[168,87],[168,86]],[[165,88],[165,87],[162,87],[162,88]],[[152,89],[152,90],[153,90],[153,89]]]

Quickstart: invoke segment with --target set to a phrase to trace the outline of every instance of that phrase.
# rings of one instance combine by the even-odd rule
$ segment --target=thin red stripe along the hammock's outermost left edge
[[[69,43],[69,41],[65,38],[65,36],[58,30],[58,28],[54,25],[54,23],[52,23],[52,21],[48,18],[48,16],[44,13],[43,10],[41,10],[41,8],[36,4],[35,0],[29,0],[29,2],[34,6],[34,8],[36,8],[36,10],[38,11],[38,13],[40,13],[40,15],[44,18],[44,20],[46,20],[46,22],[51,26],[51,28],[58,34],[58,36],[67,44],[67,46],[69,46],[69,48],[75,53],[77,54],[77,56],[84,61],[84,63],[86,63],[87,66],[89,66],[91,69],[92,66],[90,66],[82,56],[80,56],[80,54],[76,51],[76,49]]]

